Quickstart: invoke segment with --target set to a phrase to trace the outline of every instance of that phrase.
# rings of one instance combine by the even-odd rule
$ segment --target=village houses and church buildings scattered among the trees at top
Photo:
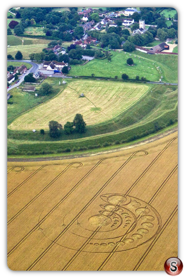
[[[117,12],[102,12],[99,13],[99,19],[100,21],[96,22],[94,20],[89,21],[89,17],[92,14],[92,12],[96,12],[96,9],[88,8],[88,9],[82,9],[78,12],[78,15],[81,17],[81,24],[79,26],[83,27],[84,34],[80,39],[75,39],[72,41],[72,44],[74,45],[74,48],[76,46],[80,46],[82,49],[86,50],[91,48],[91,46],[96,47],[96,45],[99,43],[97,38],[92,37],[91,35],[88,36],[89,31],[101,31],[102,29],[105,30],[105,28],[109,27],[118,27],[122,26],[122,28],[126,28],[130,30],[130,26],[134,24],[134,19],[129,18],[134,13],[140,13],[140,11],[137,11],[135,8],[127,8],[123,11],[117,11]],[[132,36],[135,35],[143,35],[147,32],[147,26],[145,24],[145,20],[139,20],[139,28],[134,29],[132,31]],[[155,25],[150,25],[152,27],[155,27]],[[70,33],[73,33],[74,30],[70,30]],[[130,31],[129,31],[130,32]],[[159,40],[158,37],[155,37],[155,40]],[[121,41],[121,46],[123,47],[125,41]],[[87,47],[88,46],[88,47]],[[166,42],[160,43],[156,46],[153,46],[151,48],[146,48],[143,46],[135,45],[135,49],[144,53],[148,54],[155,54],[155,53],[166,53],[170,54],[169,50],[169,44],[166,44]],[[57,57],[59,55],[68,55],[66,52],[66,49],[62,45],[56,44],[53,47],[47,47],[46,51],[52,51]],[[165,52],[164,52],[165,51]],[[94,56],[88,56],[88,55],[82,55],[82,60],[84,60],[84,63],[94,59]],[[58,76],[58,77],[65,77],[65,74],[68,73],[68,71],[71,69],[71,65],[69,65],[68,62],[64,61],[57,61],[57,60],[43,60],[42,63],[39,64],[39,68],[37,71],[35,71],[33,74],[33,77],[37,80],[40,75],[44,76]],[[16,67],[13,71],[7,71],[7,81],[8,86],[7,88],[10,89],[12,84],[17,84],[19,82],[19,79],[15,79],[15,76],[17,75],[25,75],[27,73],[27,68],[24,64],[22,64],[20,67]],[[22,79],[23,80],[23,79]],[[9,97],[9,96],[8,96]]]

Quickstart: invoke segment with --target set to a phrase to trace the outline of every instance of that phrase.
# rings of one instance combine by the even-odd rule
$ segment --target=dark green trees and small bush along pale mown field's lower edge
[[[55,120],[49,122],[49,134],[52,138],[57,138],[61,135],[63,127]],[[76,114],[73,122],[67,121],[64,125],[65,134],[72,134],[74,131],[78,133],[84,133],[86,131],[86,122],[81,114]],[[44,134],[44,130],[40,130],[41,134]]]

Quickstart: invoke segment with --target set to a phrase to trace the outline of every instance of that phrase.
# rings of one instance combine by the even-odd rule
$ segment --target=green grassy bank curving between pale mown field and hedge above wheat
[[[39,132],[34,134],[33,132],[8,131],[8,138],[10,138],[8,140],[8,148],[18,153],[33,151],[40,153],[45,150],[57,152],[67,147],[73,149],[84,146],[86,148],[89,146],[93,147],[97,144],[102,146],[106,141],[110,143],[116,140],[127,142],[130,139],[133,140],[146,136],[148,133],[155,131],[154,125],[156,122],[159,128],[164,128],[169,124],[170,120],[174,121],[177,119],[177,87],[152,85],[150,88],[151,91],[147,94],[147,97],[145,96],[138,101],[128,111],[123,112],[105,124],[88,126],[85,134],[74,134],[71,136],[62,134],[60,140],[62,139],[63,141],[49,142],[51,139],[47,132],[45,132],[44,136],[41,136]],[[19,95],[20,92],[17,92],[17,94]],[[19,96],[19,98],[22,99],[23,96],[25,97],[25,103],[22,102],[22,109],[23,104],[25,106],[28,105],[29,98],[27,93],[22,95],[21,98]],[[17,102],[17,99],[15,98],[14,101]],[[14,109],[17,111],[13,105],[9,105],[9,111],[12,112],[12,116],[14,115]],[[24,107],[24,109],[27,110],[28,107]],[[9,122],[11,121],[12,117],[10,116]],[[105,134],[105,132],[109,134]]]

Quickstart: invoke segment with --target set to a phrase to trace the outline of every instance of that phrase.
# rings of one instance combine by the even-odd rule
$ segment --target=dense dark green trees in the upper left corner
[[[70,8],[70,11],[57,12],[52,11],[53,7],[24,7],[16,11],[16,17],[19,13],[20,22],[10,22],[8,28],[8,35],[12,35],[11,29],[18,36],[23,35],[24,29],[28,26],[44,27],[43,33],[51,39],[60,39],[65,41],[73,40],[73,38],[80,38],[84,31],[80,23],[80,16],[77,13],[77,8]],[[69,31],[74,30],[71,34]]]

